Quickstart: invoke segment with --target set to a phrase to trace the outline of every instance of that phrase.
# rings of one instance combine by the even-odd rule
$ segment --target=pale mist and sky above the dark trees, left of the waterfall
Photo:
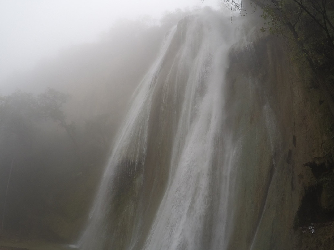
[[[0,95],[52,88],[70,96],[68,122],[82,127],[108,114],[116,131],[166,32],[194,9],[218,3],[3,1]]]

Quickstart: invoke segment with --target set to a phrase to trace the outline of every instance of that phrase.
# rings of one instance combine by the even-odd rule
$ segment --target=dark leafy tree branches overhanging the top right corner
[[[292,58],[307,65],[321,88],[334,115],[333,89],[334,7],[326,0],[253,0],[263,9],[265,25],[272,34],[286,37],[292,45]],[[305,63],[303,63],[305,62]]]

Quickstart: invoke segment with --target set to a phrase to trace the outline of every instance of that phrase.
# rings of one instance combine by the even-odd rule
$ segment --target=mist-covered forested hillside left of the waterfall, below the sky
[[[120,20],[4,82],[20,88],[0,96],[2,237],[77,236],[131,96],[185,15]]]

